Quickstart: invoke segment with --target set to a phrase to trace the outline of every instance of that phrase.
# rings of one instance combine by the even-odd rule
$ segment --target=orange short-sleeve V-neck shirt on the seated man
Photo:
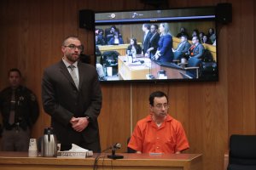
[[[158,127],[148,115],[137,122],[128,147],[142,153],[175,153],[188,149],[189,142],[182,124],[172,116]]]

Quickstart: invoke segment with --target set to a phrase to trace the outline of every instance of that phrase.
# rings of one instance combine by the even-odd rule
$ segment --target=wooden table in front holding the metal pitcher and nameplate
[[[127,154],[118,153],[124,159],[111,160],[109,154],[94,154],[90,158],[74,157],[28,157],[27,152],[0,152],[1,170],[56,170],[56,169],[93,169],[95,157],[100,156],[98,169],[170,169],[201,170],[201,154]]]

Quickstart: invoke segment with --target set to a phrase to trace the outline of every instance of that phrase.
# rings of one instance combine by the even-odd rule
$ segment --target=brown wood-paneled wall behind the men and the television
[[[85,54],[93,54],[93,33],[79,29],[79,9],[96,11],[148,8],[139,0],[9,0],[0,3],[0,89],[8,85],[9,68],[18,67],[24,84],[38,96],[44,68],[61,59],[61,42],[79,36]],[[219,81],[102,84],[99,117],[102,149],[124,145],[137,120],[148,114],[148,95],[160,89],[170,96],[170,114],[183,123],[188,153],[202,153],[204,169],[222,169],[230,134],[255,134],[256,3],[253,0],[176,1],[169,6],[191,7],[232,3],[233,21],[218,33]],[[111,5],[110,5],[111,4]],[[50,118],[41,114],[32,136],[39,137]]]

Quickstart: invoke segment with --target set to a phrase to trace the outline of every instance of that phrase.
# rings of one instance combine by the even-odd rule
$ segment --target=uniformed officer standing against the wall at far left
[[[20,71],[11,69],[9,71],[10,86],[0,92],[3,151],[27,151],[31,128],[39,115],[36,96],[30,89],[21,86],[20,82]]]

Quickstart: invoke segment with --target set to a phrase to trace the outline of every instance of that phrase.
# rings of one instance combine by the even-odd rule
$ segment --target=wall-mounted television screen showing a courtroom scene
[[[96,12],[100,81],[218,81],[215,17],[215,7]]]

